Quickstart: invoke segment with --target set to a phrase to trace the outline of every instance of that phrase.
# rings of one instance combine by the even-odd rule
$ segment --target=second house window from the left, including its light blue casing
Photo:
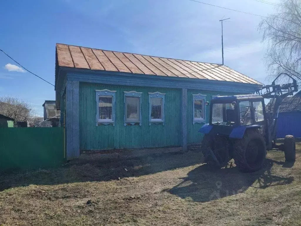
[[[134,125],[139,123],[141,126],[141,96],[142,93],[136,91],[124,91],[124,125]]]

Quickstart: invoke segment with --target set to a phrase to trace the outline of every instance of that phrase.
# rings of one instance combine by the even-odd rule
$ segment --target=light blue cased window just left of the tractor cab
[[[192,94],[192,123],[205,123],[206,110],[205,110],[206,95]],[[197,108],[195,107],[197,105]]]

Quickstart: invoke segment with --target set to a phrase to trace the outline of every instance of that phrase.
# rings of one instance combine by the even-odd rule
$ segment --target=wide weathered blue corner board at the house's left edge
[[[67,160],[79,157],[79,82],[66,84],[66,148]]]

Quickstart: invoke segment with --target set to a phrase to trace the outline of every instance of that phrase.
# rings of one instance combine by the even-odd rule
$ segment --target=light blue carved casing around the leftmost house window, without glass
[[[95,96],[96,96],[96,126],[98,126],[99,124],[104,124],[104,125],[113,124],[113,126],[115,126],[116,91],[109,90],[109,89],[101,89],[101,90],[96,89]],[[101,97],[101,96],[112,97],[112,119],[99,119],[99,97]]]

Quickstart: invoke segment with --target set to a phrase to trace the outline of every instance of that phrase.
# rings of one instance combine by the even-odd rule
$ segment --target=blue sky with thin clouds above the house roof
[[[263,16],[275,12],[254,0],[200,1]],[[223,16],[232,21],[224,23],[225,65],[265,82],[261,18],[189,0],[3,1],[0,49],[51,83],[56,42],[221,63]],[[27,100],[42,116],[54,87],[7,64],[15,63],[0,52],[0,96]]]

